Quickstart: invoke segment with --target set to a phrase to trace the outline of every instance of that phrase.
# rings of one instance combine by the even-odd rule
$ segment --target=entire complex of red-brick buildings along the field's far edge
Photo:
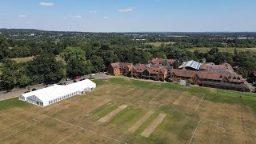
[[[167,62],[167,66],[162,66]],[[153,80],[172,80],[178,82],[179,79],[190,79],[199,86],[213,87],[224,90],[250,91],[244,84],[242,75],[236,74],[228,63],[215,65],[211,63],[200,63],[195,61],[183,62],[179,69],[172,69],[175,60],[153,58],[149,64],[133,65],[125,62],[112,63],[108,72],[110,74],[126,74],[134,78],[145,78]],[[166,64],[166,63],[165,63]],[[252,75],[256,76],[256,72]],[[254,77],[256,78],[256,77]]]

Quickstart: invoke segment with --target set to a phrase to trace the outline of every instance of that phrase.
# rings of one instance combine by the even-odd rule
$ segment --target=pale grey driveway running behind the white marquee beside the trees
[[[82,79],[82,78],[90,78],[90,75],[82,76],[80,79]],[[94,76],[92,76],[92,78],[95,78],[95,79],[109,78],[109,76],[104,73],[98,73],[98,74],[95,74]],[[67,82],[67,84],[70,84],[70,83],[73,83],[73,80],[63,81],[63,82]],[[47,85],[47,86],[52,86],[52,85]],[[30,90],[32,90],[33,88],[35,88],[36,90],[39,90],[39,89],[42,89],[45,87],[46,86],[43,86],[43,85],[30,86]],[[27,88],[20,89],[20,90],[13,90],[9,93],[2,92],[2,93],[0,93],[0,101],[5,100],[5,99],[10,99],[10,98],[17,98],[21,94],[24,94],[26,91],[28,91]]]

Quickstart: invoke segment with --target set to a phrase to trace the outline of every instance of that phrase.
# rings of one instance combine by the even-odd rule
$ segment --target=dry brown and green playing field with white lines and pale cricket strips
[[[44,108],[0,102],[0,143],[254,143],[256,98],[126,78]]]

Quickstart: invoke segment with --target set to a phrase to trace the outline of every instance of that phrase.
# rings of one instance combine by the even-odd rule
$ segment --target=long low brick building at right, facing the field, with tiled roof
[[[250,92],[248,86],[240,74],[221,73],[216,71],[197,71],[197,70],[172,70],[170,77],[177,81],[181,79],[192,79],[199,86],[213,87],[224,90],[238,90]]]

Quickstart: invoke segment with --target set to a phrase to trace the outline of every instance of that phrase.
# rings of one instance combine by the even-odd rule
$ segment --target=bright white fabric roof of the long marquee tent
[[[34,95],[39,99],[41,99],[42,102],[47,102],[55,98],[62,97],[66,94],[71,94],[77,91],[83,91],[88,87],[95,88],[96,84],[90,81],[89,79],[86,79],[80,82],[72,83],[67,86],[61,86],[61,85],[49,86],[41,90],[35,90],[35,91],[31,91],[30,93],[22,94],[22,96],[27,98]]]

